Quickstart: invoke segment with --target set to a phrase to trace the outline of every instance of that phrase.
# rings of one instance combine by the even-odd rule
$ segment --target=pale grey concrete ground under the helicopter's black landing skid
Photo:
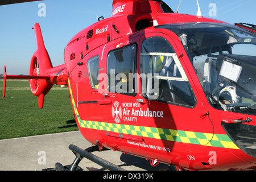
[[[69,150],[69,144],[82,149],[92,146],[82,137],[80,131],[0,140],[0,171],[54,170],[57,162],[67,166],[76,158]],[[167,166],[158,164],[151,167],[146,159],[113,150],[92,154],[127,171],[158,171]],[[79,167],[84,171],[108,171],[86,158],[81,160]]]

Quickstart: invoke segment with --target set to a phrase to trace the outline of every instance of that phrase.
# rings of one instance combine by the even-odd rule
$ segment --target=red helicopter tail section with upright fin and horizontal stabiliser
[[[6,79],[29,79],[31,92],[38,97],[39,108],[43,107],[44,96],[51,90],[53,84],[67,85],[68,75],[65,64],[52,67],[51,59],[44,47],[41,28],[38,23],[32,28],[35,30],[36,45],[38,49],[31,58],[30,71],[27,76],[6,75],[4,67],[3,97],[5,97]]]

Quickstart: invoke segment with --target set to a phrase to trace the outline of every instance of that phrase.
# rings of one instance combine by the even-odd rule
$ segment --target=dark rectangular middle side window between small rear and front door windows
[[[114,49],[108,54],[108,90],[112,93],[135,96],[134,73],[137,62],[137,44]]]

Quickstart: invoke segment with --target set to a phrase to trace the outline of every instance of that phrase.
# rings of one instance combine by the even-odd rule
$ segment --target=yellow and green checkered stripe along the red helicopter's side
[[[69,86],[70,88],[70,86]],[[75,110],[80,127],[101,131],[112,131],[119,134],[130,134],[140,137],[168,140],[172,142],[199,144],[212,147],[234,148],[239,149],[236,144],[225,134],[199,133],[194,131],[161,129],[156,127],[122,125],[117,123],[107,123],[98,121],[85,121],[80,119],[76,108],[75,100],[71,93],[72,105]]]

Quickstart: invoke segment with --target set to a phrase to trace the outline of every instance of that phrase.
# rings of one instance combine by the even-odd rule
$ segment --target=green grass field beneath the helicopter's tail
[[[0,139],[78,130],[68,88],[54,85],[44,98],[43,109],[28,81],[7,80],[5,98],[2,92],[0,80]]]

